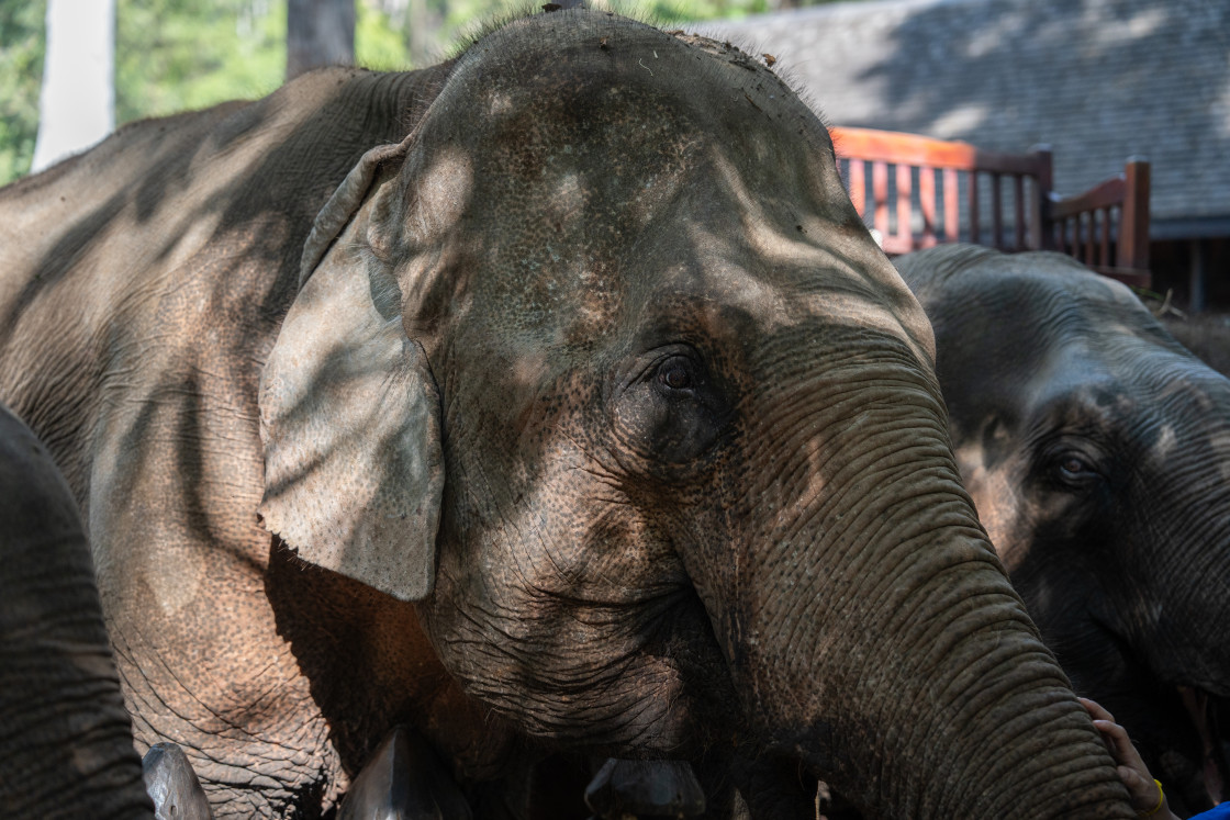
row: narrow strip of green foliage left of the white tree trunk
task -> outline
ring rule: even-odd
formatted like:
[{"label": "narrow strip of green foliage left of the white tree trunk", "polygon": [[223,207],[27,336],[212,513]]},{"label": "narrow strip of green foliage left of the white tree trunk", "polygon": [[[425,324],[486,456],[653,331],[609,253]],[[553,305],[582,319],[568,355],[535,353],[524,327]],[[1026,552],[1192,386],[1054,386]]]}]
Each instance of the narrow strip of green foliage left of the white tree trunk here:
[{"label": "narrow strip of green foliage left of the white tree trunk", "polygon": [[46,16],[46,0],[0,0],[0,184],[34,156]]}]

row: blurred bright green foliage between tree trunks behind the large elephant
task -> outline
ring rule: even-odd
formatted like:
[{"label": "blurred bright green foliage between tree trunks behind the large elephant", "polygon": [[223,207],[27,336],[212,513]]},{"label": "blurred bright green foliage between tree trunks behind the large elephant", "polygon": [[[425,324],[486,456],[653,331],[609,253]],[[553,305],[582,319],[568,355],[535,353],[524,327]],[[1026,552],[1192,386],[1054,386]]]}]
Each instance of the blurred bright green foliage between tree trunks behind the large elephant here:
[{"label": "blurred bright green foliage between tree trunks behind the large elephant", "polygon": [[[287,76],[289,4],[337,1],[114,0],[114,122],[268,93]],[[522,7],[503,0],[349,1],[354,63],[383,70],[435,63],[470,27],[501,10]],[[632,0],[625,7],[640,17],[675,22],[824,1]],[[46,17],[47,0],[0,0],[0,184],[28,172],[34,152]]]}]

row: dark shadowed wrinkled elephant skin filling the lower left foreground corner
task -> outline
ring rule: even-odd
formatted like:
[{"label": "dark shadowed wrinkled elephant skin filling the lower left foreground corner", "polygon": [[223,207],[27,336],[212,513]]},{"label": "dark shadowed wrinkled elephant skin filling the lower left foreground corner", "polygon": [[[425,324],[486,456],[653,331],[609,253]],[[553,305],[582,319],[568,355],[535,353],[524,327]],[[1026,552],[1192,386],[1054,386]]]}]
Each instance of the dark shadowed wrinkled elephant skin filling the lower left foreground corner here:
[{"label": "dark shadowed wrinkled elephant skin filling the lower left foreground corner", "polygon": [[42,443],[0,407],[0,806],[153,819],[85,525]]}]

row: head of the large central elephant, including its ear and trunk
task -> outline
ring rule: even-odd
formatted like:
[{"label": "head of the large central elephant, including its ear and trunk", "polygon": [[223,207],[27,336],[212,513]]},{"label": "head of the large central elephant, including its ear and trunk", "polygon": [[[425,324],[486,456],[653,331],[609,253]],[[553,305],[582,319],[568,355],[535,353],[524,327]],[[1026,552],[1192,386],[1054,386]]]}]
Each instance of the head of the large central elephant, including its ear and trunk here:
[{"label": "head of the large central elephant, including its ear and trunk", "polygon": [[739,781],[754,816],[811,816],[801,771],[870,815],[1130,816],[961,487],[927,322],[764,66],[513,22],[301,277],[263,521],[415,601],[528,735],[755,760],[798,794]]}]

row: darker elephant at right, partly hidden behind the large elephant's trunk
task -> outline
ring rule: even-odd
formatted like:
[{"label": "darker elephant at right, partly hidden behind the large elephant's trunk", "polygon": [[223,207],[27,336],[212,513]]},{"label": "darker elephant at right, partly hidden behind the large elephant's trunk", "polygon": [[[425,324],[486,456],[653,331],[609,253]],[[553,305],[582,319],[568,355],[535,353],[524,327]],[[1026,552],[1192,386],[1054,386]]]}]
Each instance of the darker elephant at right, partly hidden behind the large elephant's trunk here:
[{"label": "darker elephant at right, partly hidden behind the large elephant's trunk", "polygon": [[935,328],[966,487],[1043,638],[1171,806],[1209,808],[1226,777],[1230,380],[1065,256],[942,246],[897,267]]}]

